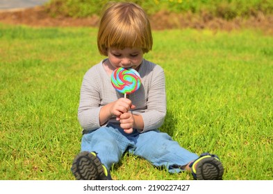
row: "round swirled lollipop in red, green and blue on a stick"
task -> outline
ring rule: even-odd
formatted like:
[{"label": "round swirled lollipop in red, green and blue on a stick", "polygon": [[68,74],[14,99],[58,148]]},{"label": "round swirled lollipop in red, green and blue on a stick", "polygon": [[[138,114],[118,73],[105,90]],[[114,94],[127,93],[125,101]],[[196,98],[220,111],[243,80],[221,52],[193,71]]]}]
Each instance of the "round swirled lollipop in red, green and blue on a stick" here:
[{"label": "round swirled lollipop in red, green and blue on a stick", "polygon": [[111,82],[117,91],[124,94],[124,98],[126,98],[126,94],[132,94],[138,90],[141,85],[138,71],[135,71],[135,69],[124,69],[122,67],[113,71]]}]

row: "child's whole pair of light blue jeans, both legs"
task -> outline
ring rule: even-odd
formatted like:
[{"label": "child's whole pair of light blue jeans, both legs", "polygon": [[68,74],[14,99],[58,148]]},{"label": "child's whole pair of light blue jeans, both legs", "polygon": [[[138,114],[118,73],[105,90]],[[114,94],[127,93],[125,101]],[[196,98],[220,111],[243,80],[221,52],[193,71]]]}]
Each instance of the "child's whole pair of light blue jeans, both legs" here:
[{"label": "child's whole pair of light blue jeans, both legs", "polygon": [[[126,134],[122,128],[107,125],[83,134],[81,151],[97,152],[101,163],[110,169],[128,151],[147,159],[154,166],[165,166],[170,173],[179,173],[181,166],[198,158],[195,153],[182,148],[179,143],[159,130]],[[180,167],[180,168],[179,168]]]}]

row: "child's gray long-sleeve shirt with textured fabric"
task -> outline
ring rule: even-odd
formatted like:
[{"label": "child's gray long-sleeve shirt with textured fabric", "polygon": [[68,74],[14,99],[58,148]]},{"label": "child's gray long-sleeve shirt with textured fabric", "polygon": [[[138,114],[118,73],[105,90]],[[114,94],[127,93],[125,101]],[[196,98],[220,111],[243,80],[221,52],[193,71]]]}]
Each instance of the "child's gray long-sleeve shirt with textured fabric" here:
[{"label": "child's gray long-sleeve shirt with textured fabric", "polygon": [[[103,61],[91,67],[83,77],[81,98],[78,107],[78,121],[84,131],[96,130],[99,125],[101,107],[124,97],[111,84],[110,76],[103,67]],[[154,130],[163,124],[166,115],[165,75],[163,69],[152,62],[143,60],[138,71],[141,86],[127,96],[135,109],[133,114],[140,114],[144,121],[142,132]],[[115,117],[108,123],[119,125]],[[106,123],[107,124],[107,123]]]}]

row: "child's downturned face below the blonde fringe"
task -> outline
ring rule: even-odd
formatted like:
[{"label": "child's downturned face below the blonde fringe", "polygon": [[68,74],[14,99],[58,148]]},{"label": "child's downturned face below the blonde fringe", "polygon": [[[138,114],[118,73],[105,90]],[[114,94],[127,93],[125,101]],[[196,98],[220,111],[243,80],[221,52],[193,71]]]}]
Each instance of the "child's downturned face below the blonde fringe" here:
[{"label": "child's downturned face below the blonde fringe", "polygon": [[113,67],[124,67],[137,69],[142,60],[143,52],[141,48],[108,48],[108,59]]}]

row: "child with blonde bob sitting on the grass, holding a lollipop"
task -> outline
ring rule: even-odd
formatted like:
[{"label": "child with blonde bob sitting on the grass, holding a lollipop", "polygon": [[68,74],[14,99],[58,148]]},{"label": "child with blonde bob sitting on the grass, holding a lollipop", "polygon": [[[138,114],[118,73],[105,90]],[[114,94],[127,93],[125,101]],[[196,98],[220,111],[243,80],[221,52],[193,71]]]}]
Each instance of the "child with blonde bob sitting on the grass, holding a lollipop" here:
[{"label": "child with blonde bob sitting on the grass, holding a lollipop", "polygon": [[[166,114],[165,75],[143,58],[152,44],[149,19],[140,6],[108,3],[97,37],[99,52],[108,58],[85,73],[81,86],[78,120],[83,137],[72,164],[76,179],[111,179],[110,167],[124,152],[165,166],[170,173],[189,170],[195,179],[222,179],[224,169],[216,155],[198,157],[158,130]],[[140,73],[140,89],[127,98],[111,85],[111,73],[118,67]]]}]

